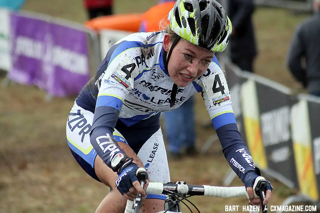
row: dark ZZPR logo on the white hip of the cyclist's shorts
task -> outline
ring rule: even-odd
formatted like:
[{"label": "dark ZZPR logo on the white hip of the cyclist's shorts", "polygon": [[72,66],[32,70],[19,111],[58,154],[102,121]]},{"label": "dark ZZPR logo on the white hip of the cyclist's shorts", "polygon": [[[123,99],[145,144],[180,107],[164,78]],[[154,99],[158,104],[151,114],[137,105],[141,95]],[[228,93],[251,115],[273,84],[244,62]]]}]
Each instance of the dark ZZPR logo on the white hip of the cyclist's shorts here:
[{"label": "dark ZZPR logo on the white hip of the cyclist's shorts", "polygon": [[[72,117],[72,119],[71,119],[71,116],[75,116],[75,117]],[[74,123],[74,124],[72,124],[73,126],[71,126],[71,123]],[[87,133],[90,133],[90,130],[91,130],[91,125],[87,124],[87,123],[88,123],[87,119],[84,118],[84,115],[80,114],[80,110],[77,110],[77,113],[70,113],[69,114],[68,126],[69,126],[71,132],[73,132],[76,128],[80,129],[78,134],[81,136],[82,143],[84,140],[84,136]]]}]

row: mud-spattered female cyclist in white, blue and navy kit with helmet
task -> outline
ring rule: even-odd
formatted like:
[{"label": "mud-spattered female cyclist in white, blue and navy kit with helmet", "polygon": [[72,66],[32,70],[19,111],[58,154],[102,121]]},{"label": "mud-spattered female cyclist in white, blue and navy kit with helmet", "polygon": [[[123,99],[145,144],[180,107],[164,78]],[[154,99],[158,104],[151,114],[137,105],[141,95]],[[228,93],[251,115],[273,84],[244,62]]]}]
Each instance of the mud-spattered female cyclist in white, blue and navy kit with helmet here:
[{"label": "mud-spattered female cyclist in white, blue and navy kit with helmet", "polygon": [[[136,170],[150,181],[169,182],[160,112],[178,108],[201,92],[223,152],[247,187],[259,176],[237,130],[228,85],[214,57],[232,27],[214,0],[178,0],[165,31],[135,33],[117,42],[76,98],[67,122],[72,155],[92,178],[111,187],[96,212],[124,212],[139,186]],[[265,203],[271,197],[268,184]],[[163,210],[165,197],[148,194],[144,210]],[[259,203],[253,199],[251,202]],[[142,210],[143,210],[142,208]]]}]

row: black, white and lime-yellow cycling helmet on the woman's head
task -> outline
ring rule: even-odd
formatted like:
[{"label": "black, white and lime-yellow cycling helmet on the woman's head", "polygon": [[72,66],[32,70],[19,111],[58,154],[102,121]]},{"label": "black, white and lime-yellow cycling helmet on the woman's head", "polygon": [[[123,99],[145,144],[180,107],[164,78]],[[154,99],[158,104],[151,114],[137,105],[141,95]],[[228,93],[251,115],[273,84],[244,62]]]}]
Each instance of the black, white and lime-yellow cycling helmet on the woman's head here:
[{"label": "black, white and lime-yellow cycling helmet on the woman's head", "polygon": [[168,20],[176,34],[199,47],[222,52],[228,45],[231,21],[214,0],[177,0]]}]

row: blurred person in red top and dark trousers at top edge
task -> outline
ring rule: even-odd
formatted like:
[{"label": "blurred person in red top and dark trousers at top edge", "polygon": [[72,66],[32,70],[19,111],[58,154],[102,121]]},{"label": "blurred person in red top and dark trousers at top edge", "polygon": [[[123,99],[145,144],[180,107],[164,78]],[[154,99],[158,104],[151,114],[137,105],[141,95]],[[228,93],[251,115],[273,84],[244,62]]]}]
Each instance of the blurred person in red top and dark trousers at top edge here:
[{"label": "blurred person in red top and dark trousers at top edge", "polygon": [[84,0],[89,19],[112,15],[113,0]]}]

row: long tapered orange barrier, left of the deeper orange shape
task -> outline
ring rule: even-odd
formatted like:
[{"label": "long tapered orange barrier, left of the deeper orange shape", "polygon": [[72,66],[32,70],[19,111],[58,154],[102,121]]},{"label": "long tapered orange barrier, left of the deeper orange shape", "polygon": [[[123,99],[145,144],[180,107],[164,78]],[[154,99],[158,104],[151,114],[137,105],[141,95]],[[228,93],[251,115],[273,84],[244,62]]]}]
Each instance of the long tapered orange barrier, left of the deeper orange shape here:
[{"label": "long tapered orange barrier, left of the deeper orange shape", "polygon": [[141,15],[141,13],[129,13],[101,16],[86,21],[84,25],[94,30],[114,29],[139,32],[142,20]]}]

